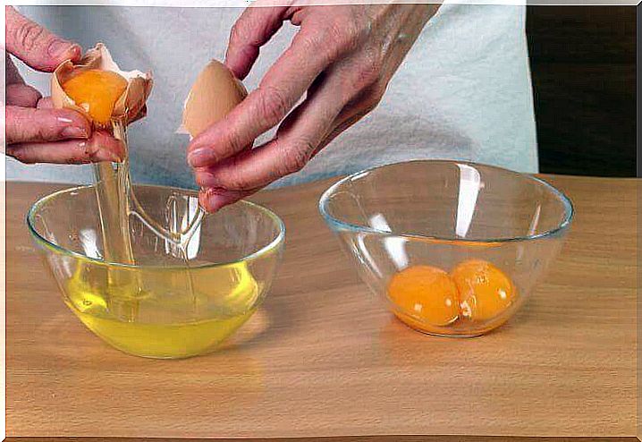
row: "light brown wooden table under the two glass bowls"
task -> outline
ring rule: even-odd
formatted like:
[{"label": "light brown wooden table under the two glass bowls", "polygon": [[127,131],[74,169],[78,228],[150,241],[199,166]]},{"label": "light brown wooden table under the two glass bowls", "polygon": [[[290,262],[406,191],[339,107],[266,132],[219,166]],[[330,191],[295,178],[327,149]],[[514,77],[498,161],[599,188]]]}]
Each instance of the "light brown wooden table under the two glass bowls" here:
[{"label": "light brown wooden table under the two glass bowls", "polygon": [[376,302],[317,213],[328,182],[261,192],[288,229],[274,288],[224,351],[183,361],[120,353],[72,316],[23,221],[60,186],[7,183],[7,435],[633,437],[637,182],[546,178],[577,208],[568,242],[518,316],[475,339],[420,335]]}]

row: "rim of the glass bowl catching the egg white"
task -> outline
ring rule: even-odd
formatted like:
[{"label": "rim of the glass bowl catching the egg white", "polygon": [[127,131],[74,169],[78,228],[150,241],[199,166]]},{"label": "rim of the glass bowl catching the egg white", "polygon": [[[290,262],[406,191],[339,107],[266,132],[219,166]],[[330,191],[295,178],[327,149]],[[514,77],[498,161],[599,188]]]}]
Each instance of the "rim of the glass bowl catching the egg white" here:
[{"label": "rim of the glass bowl catching the egg white", "polygon": [[[85,184],[85,185],[79,185],[79,186],[74,186],[74,187],[69,187],[66,189],[62,189],[60,191],[55,191],[53,193],[49,193],[46,196],[38,199],[36,202],[34,202],[29,211],[27,212],[27,226],[29,228],[31,236],[38,242],[39,245],[43,246],[44,248],[54,251],[55,253],[61,254],[61,255],[66,255],[69,257],[72,257],[74,259],[82,259],[85,261],[89,261],[91,263],[101,265],[101,266],[109,266],[109,267],[114,267],[114,268],[144,268],[148,270],[152,269],[179,269],[179,268],[185,268],[185,266],[153,266],[153,265],[138,265],[138,264],[125,264],[123,262],[112,262],[112,261],[107,261],[105,259],[97,259],[97,258],[92,258],[89,257],[83,253],[80,253],[78,251],[71,251],[69,249],[66,249],[55,242],[51,242],[47,240],[45,237],[43,237],[41,234],[38,233],[36,228],[34,227],[32,223],[32,218],[36,215],[38,208],[41,208],[44,204],[46,204],[47,201],[53,200],[56,197],[62,195],[63,193],[71,193],[72,191],[82,191],[86,189],[90,189],[95,187],[95,184]],[[174,186],[162,186],[162,185],[156,185],[156,184],[133,184],[132,187],[152,187],[152,188],[163,188],[163,189],[172,189],[175,191],[182,191],[184,193],[190,193],[193,194],[194,196],[198,195],[197,191],[193,191],[190,189],[183,189],[180,187],[174,187]],[[239,200],[234,204],[243,204],[245,206],[248,206],[250,208],[255,208],[258,209],[258,211],[262,212],[265,214],[267,217],[269,217],[275,225],[277,225],[279,233],[276,235],[275,239],[273,239],[271,242],[267,243],[265,246],[261,247],[258,249],[258,251],[253,251],[249,255],[244,256],[241,259],[234,259],[231,261],[222,261],[222,262],[213,262],[213,263],[207,263],[207,264],[200,264],[197,266],[190,266],[190,269],[202,269],[202,268],[221,268],[221,267],[228,267],[232,266],[234,264],[239,264],[241,262],[248,262],[248,261],[253,261],[255,259],[258,259],[265,255],[266,253],[270,251],[274,251],[277,247],[279,247],[281,244],[283,244],[284,239],[285,239],[285,225],[283,223],[283,220],[281,217],[278,217],[275,212],[270,210],[269,208],[266,208],[264,206],[261,206],[260,204],[257,204],[255,202],[251,202],[248,200]]]}]

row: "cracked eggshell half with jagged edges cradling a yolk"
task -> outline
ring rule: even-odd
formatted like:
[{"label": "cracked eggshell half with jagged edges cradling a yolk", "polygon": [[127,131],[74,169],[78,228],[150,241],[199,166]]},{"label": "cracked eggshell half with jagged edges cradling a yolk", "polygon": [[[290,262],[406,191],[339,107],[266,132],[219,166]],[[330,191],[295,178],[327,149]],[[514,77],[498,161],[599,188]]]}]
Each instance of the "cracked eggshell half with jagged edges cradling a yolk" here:
[{"label": "cracked eggshell half with jagged edges cradling a yolk", "polygon": [[118,64],[114,63],[114,59],[109,54],[106,46],[102,43],[98,43],[96,47],[89,49],[78,64],[72,64],[68,60],[55,69],[51,78],[51,98],[55,107],[76,110],[91,120],[87,111],[77,106],[72,98],[69,98],[64,93],[63,89],[65,81],[89,69],[116,72],[127,80],[127,89],[114,105],[113,116],[115,118],[122,118],[126,124],[129,124],[146,114],[146,102],[153,84],[151,72],[121,71]]}]

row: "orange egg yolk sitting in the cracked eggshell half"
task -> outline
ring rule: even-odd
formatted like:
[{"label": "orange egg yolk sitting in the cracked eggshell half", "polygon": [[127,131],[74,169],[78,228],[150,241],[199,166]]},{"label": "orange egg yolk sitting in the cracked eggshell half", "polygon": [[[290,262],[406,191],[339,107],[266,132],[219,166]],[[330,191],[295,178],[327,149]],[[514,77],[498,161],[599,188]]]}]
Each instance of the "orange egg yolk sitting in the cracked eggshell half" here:
[{"label": "orange egg yolk sitting in the cracked eggshell half", "polygon": [[65,81],[63,90],[98,124],[109,123],[114,105],[127,89],[127,80],[116,72],[90,69]]}]

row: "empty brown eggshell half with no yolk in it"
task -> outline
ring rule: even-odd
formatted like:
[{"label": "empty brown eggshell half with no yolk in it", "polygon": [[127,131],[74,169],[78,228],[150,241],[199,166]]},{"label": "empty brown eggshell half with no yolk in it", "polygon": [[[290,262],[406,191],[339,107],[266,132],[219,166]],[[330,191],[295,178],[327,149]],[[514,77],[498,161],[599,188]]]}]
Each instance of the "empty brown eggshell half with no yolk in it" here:
[{"label": "empty brown eggshell half with no yolk in it", "polygon": [[180,133],[196,137],[248,96],[248,91],[232,71],[216,60],[199,73],[185,100]]}]

